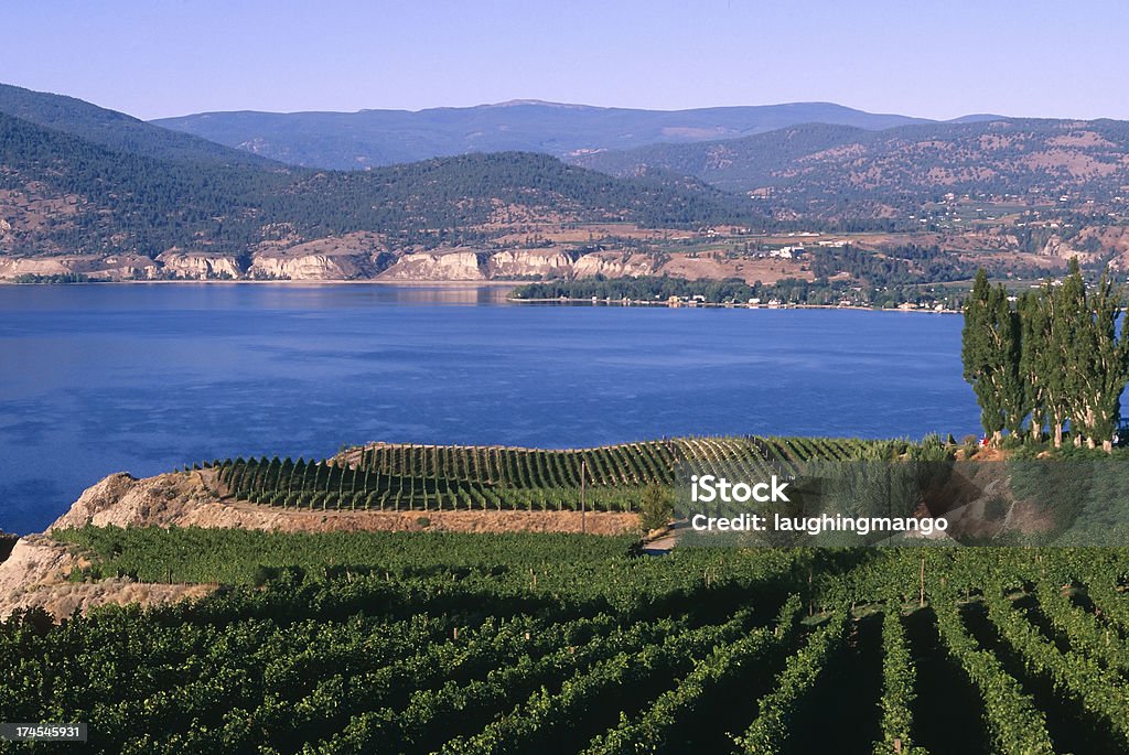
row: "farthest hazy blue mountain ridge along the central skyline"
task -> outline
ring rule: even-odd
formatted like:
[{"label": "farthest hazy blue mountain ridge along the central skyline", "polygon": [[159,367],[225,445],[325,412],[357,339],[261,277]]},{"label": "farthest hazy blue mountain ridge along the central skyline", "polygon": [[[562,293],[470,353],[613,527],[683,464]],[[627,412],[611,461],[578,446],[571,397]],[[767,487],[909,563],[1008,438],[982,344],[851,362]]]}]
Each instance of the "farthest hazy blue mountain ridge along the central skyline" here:
[{"label": "farthest hazy blue mountain ridge along the central skyline", "polygon": [[926,121],[832,103],[646,111],[539,100],[418,112],[201,113],[154,121],[282,163],[336,169],[469,152],[520,150],[563,157],[659,142],[734,139],[816,122],[889,129]]}]

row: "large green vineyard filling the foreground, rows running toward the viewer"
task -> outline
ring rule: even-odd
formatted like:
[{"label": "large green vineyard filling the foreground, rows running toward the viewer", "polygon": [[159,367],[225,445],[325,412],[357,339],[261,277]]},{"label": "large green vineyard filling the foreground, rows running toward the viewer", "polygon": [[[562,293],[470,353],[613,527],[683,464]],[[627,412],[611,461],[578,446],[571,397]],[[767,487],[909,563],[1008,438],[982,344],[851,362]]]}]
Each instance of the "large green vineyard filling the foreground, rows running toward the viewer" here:
[{"label": "large green vineyard filling the foreground, rows running toward the viewer", "polygon": [[226,586],[0,625],[0,720],[86,721],[91,752],[1129,752],[1123,550],[60,537],[104,576]]}]

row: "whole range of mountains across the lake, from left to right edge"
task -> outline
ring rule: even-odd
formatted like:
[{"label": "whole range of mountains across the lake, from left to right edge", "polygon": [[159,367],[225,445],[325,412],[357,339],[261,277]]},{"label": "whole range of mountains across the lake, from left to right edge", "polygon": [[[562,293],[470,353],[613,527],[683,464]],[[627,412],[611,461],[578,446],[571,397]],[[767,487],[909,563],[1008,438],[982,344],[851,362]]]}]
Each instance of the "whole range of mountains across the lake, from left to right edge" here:
[{"label": "whole range of mountains across the lake, from left to right edge", "polygon": [[[665,113],[519,102],[160,123],[200,126],[242,149],[0,85],[0,278],[79,272],[88,258],[111,257],[119,278],[373,276],[390,255],[423,254],[420,267],[435,249],[541,254],[554,244],[567,253],[553,270],[589,253],[621,255],[634,270],[632,255],[654,256],[644,260],[654,266],[689,248],[683,242],[743,228],[929,231],[926,243],[959,249],[1082,249],[1095,260],[1129,253],[1121,121],[929,122],[821,103]],[[264,124],[273,135],[240,141]],[[383,165],[411,158],[423,159]],[[366,169],[313,167],[325,165]],[[980,207],[961,218],[959,197],[940,202],[949,193],[1008,199],[999,213]],[[1053,218],[1040,216],[1051,209]],[[994,226],[970,228],[978,211]],[[76,255],[81,264],[24,264]],[[333,256],[352,266],[330,264]]]}]

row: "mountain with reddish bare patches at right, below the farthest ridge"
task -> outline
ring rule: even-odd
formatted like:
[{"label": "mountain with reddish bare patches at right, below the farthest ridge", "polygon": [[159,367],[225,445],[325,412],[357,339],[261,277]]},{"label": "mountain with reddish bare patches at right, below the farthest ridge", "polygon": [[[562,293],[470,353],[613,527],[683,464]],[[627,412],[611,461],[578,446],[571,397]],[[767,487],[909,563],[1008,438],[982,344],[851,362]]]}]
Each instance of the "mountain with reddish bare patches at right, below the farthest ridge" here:
[{"label": "mountain with reddish bare patches at right, below the farthest ridge", "polygon": [[956,194],[1109,201],[1129,188],[1129,122],[1004,118],[882,131],[826,124],[570,158],[616,176],[651,170],[808,209]]}]

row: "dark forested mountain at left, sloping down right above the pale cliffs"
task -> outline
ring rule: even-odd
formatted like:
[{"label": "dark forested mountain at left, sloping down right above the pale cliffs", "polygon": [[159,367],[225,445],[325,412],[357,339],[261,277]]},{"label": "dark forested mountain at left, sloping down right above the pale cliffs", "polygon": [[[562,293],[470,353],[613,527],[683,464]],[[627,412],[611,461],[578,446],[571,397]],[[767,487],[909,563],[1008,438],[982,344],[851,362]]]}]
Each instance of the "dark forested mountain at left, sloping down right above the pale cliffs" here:
[{"label": "dark forested mountain at left, sloping down right above the pale cliffs", "polygon": [[[139,129],[124,116],[116,134],[108,116],[89,118],[68,103],[56,112],[62,130],[0,113],[0,255],[195,249],[239,257],[361,232],[386,246],[431,247],[481,242],[531,219],[672,227],[750,216],[747,200],[697,179],[620,179],[545,155],[470,155],[364,173],[285,168],[190,159],[193,152],[168,147],[180,134],[163,144],[148,138],[157,126]],[[75,135],[80,130],[102,138]],[[154,156],[168,151],[177,159]]]}]

